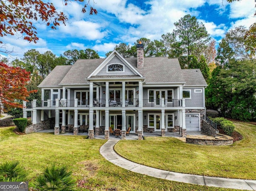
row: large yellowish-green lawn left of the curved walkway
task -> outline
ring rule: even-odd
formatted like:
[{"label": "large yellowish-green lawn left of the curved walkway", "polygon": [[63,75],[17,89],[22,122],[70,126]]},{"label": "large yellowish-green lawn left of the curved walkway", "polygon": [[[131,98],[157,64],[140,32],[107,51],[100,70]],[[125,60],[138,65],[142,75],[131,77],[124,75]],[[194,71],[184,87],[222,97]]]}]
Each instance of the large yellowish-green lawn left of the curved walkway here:
[{"label": "large yellowish-green lawn left of the curved walkway", "polygon": [[[0,163],[6,160],[20,161],[29,172],[30,183],[42,173],[44,167],[55,163],[67,165],[77,181],[83,180],[84,185],[78,187],[83,191],[234,191],[167,181],[122,169],[100,155],[100,146],[106,140],[89,140],[85,136],[54,136],[50,133],[18,136],[12,132],[13,129],[0,128]],[[130,144],[136,146],[135,143],[149,141],[121,141],[120,145],[129,148]],[[155,154],[151,154],[150,160],[153,158],[157,158]]]}]

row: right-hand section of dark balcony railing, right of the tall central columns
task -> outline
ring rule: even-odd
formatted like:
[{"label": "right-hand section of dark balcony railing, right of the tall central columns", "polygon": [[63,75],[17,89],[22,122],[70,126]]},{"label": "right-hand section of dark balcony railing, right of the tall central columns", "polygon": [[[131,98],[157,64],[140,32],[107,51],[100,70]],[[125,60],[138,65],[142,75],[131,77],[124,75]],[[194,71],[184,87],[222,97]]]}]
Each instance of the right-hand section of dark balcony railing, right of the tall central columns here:
[{"label": "right-hand section of dark balcony railing, right of the tall central columns", "polygon": [[182,99],[144,99],[143,107],[182,107]]}]

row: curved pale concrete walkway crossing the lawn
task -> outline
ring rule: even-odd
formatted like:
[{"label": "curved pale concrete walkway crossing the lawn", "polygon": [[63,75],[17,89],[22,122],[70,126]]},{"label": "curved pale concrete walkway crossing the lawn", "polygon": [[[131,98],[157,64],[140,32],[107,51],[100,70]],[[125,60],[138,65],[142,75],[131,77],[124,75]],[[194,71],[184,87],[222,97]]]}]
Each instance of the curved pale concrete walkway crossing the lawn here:
[{"label": "curved pale concrete walkway crossing the lawn", "polygon": [[100,148],[100,154],[110,161],[111,163],[118,165],[124,169],[149,175],[156,178],[162,178],[170,181],[178,181],[190,184],[222,187],[222,188],[232,188],[241,190],[254,190],[256,191],[256,180],[244,180],[244,179],[229,179],[229,178],[218,178],[218,177],[208,177],[202,175],[191,175],[176,173],[171,171],[165,171],[160,169],[155,169],[152,167],[140,165],[134,163],[125,158],[122,158],[114,151],[114,145],[119,140],[108,140]]}]

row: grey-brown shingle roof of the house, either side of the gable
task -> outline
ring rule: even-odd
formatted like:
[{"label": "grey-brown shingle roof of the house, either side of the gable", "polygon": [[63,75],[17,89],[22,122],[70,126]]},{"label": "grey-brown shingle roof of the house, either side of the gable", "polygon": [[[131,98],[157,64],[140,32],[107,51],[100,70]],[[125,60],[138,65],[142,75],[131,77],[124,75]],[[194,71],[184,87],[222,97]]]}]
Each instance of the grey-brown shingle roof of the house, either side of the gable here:
[{"label": "grey-brown shingle roof of the house, either side of the gable", "polygon": [[[207,85],[200,69],[181,69],[178,59],[168,57],[144,57],[144,67],[137,68],[137,58],[125,58],[140,74],[146,83],[186,83],[185,85]],[[39,87],[58,85],[84,85],[86,78],[105,59],[79,59],[74,65],[56,66],[42,81]],[[92,76],[100,78],[139,77],[138,75],[124,76]]]}]

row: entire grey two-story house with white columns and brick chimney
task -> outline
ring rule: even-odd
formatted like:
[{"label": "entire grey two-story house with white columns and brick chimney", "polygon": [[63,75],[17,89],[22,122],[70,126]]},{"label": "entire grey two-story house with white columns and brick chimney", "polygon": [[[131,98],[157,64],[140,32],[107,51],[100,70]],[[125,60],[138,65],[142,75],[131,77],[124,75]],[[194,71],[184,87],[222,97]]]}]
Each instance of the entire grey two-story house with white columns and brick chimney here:
[{"label": "entire grey two-story house with white columns and brick chimney", "polygon": [[24,117],[32,112],[32,124],[55,118],[55,134],[88,125],[89,138],[105,134],[109,127],[143,132],[200,131],[205,114],[206,81],[199,69],[181,69],[178,59],[124,58],[114,50],[106,59],[79,59],[74,65],[56,66],[42,81],[42,100],[24,102]]}]

